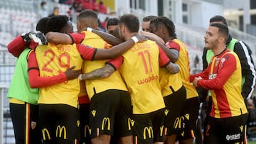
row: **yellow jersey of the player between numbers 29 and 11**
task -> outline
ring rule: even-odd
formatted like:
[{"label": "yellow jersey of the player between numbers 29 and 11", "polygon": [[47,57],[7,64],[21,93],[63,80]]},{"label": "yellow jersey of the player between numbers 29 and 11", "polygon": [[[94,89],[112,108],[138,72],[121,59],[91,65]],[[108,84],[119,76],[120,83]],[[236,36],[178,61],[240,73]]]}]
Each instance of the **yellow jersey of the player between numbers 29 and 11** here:
[{"label": "yellow jersey of the player between numbers 29 and 11", "polygon": [[[83,31],[86,37],[85,40],[82,41],[83,45],[89,45],[90,47],[94,48],[110,48],[109,45],[105,40],[102,40],[99,35],[89,31]],[[102,68],[105,66],[107,60],[96,60],[96,61],[85,61],[82,67],[82,73],[92,72],[93,70]],[[127,87],[124,84],[124,81],[119,74],[119,71],[115,71],[111,74],[110,77],[105,79],[95,79],[95,80],[86,80],[85,86],[87,89],[87,94],[91,99],[92,96],[96,93],[104,92],[107,89],[119,89],[127,91]]]}]

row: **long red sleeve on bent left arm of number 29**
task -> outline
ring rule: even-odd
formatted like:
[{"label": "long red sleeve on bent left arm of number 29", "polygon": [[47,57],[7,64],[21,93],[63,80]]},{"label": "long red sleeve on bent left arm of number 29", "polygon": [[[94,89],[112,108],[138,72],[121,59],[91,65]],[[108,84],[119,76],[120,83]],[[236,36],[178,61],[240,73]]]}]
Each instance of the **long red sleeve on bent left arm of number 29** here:
[{"label": "long red sleeve on bent left arm of number 29", "polygon": [[31,88],[40,88],[65,82],[67,78],[65,77],[65,73],[53,77],[40,77],[38,63],[36,61],[36,52],[31,50],[28,55],[28,80]]}]

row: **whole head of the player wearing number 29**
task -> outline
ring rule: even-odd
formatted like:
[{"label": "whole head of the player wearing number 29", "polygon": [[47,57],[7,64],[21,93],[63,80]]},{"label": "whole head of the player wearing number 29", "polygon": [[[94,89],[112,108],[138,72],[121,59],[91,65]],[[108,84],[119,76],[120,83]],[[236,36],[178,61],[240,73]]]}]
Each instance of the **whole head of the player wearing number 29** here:
[{"label": "whole head of the player wearing number 29", "polygon": [[48,31],[73,33],[73,25],[68,16],[53,16],[47,22]]}]

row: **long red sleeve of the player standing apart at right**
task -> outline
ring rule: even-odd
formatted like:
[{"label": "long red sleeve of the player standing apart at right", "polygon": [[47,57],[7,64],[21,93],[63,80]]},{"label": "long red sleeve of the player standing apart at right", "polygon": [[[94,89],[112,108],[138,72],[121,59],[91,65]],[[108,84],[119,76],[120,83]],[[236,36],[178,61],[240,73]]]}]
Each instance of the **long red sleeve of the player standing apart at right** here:
[{"label": "long red sleeve of the player standing apart at right", "polygon": [[[210,65],[215,64],[211,63]],[[206,89],[222,89],[225,82],[228,81],[230,76],[236,70],[236,65],[237,61],[235,60],[235,56],[232,54],[226,54],[225,62],[223,62],[223,65],[219,68],[218,74],[216,75],[215,79],[198,80],[198,87],[203,87]]]}]

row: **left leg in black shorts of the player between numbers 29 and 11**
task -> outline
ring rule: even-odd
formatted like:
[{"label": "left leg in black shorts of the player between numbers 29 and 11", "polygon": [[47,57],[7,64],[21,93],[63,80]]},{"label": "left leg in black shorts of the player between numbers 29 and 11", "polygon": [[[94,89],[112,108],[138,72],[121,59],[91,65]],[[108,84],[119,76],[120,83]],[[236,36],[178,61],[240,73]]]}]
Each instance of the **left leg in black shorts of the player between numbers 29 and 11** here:
[{"label": "left leg in black shorts of the player between numbers 29 and 11", "polygon": [[111,135],[114,134],[114,116],[119,106],[117,92],[110,89],[92,96],[89,116],[92,144],[110,143]]}]

